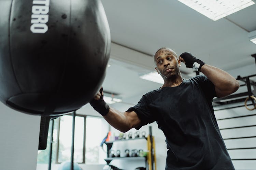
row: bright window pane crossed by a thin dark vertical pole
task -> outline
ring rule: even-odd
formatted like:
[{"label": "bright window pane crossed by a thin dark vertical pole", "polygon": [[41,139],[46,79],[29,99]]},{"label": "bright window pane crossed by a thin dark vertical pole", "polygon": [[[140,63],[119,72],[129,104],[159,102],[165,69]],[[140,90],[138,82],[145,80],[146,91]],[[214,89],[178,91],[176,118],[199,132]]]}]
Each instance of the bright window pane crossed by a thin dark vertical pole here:
[{"label": "bright window pane crossed by a thin dark vertical pole", "polygon": [[[60,118],[58,162],[70,161],[72,140],[72,116]],[[75,117],[74,162],[83,162],[84,117]]]}]

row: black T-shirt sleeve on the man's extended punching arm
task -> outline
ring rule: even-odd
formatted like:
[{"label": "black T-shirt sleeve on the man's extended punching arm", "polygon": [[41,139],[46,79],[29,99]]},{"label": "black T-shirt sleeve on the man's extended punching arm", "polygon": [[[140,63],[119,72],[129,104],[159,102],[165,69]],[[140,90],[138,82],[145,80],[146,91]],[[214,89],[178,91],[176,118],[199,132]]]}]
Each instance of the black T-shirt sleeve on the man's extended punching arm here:
[{"label": "black T-shirt sleeve on the man's extended punching arm", "polygon": [[152,114],[152,109],[150,109],[150,97],[148,94],[142,96],[137,105],[130,107],[126,112],[134,111],[139,119],[141,120],[141,124],[135,129],[139,130],[142,126],[154,122],[154,117]]}]

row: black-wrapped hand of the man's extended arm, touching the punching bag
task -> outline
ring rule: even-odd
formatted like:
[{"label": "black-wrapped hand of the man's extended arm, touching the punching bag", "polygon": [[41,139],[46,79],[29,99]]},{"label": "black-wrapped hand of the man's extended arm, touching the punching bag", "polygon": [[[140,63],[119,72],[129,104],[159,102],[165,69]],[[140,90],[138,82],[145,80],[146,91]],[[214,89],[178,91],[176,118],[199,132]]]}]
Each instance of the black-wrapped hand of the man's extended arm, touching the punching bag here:
[{"label": "black-wrapped hand of the man's extended arm, touching the punching bag", "polygon": [[[103,88],[100,89],[100,94],[102,94]],[[109,105],[106,104],[106,102],[103,100],[103,95],[100,96],[99,100],[91,100],[90,105],[93,106],[93,108],[99,112],[102,116],[105,116],[109,113]]]}]

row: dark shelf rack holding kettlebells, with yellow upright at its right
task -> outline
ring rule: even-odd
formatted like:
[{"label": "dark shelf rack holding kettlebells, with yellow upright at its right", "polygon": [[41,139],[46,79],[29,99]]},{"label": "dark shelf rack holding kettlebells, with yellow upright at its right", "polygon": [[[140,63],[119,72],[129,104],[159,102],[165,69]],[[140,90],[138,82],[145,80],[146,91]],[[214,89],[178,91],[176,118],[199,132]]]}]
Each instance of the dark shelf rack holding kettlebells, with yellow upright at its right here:
[{"label": "dark shelf rack holding kettlebells, with yellow upright at its right", "polygon": [[[153,148],[152,143],[154,144],[154,142],[152,142],[152,138],[154,138],[151,134],[151,126],[150,126],[150,134],[148,135],[148,137],[140,137],[140,138],[130,138],[130,139],[118,139],[118,140],[114,140],[114,141],[110,141],[110,142],[105,142],[106,146],[107,146],[107,155],[109,153],[109,151],[111,150],[113,143],[114,142],[124,142],[124,141],[129,141],[129,140],[147,140],[147,147],[150,148],[150,152],[148,153],[147,157],[107,157],[104,160],[106,161],[106,163],[109,165],[110,162],[112,160],[118,159],[118,160],[143,160],[145,161],[145,165],[146,165],[146,169],[147,170],[153,170],[153,164],[155,162],[155,148]],[[152,165],[148,165],[148,163],[152,164]],[[156,164],[156,162],[155,162]],[[155,166],[156,169],[156,166]]]}]

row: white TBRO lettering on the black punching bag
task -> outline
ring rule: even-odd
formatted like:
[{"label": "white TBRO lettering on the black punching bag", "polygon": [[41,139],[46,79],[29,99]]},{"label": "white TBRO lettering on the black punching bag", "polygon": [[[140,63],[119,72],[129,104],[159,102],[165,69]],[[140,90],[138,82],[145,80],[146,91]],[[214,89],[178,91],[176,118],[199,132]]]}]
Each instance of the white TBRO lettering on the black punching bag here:
[{"label": "white TBRO lettering on the black punching bag", "polygon": [[32,33],[45,33],[48,31],[49,16],[49,3],[50,0],[33,0],[32,15],[31,15],[31,27]]}]

